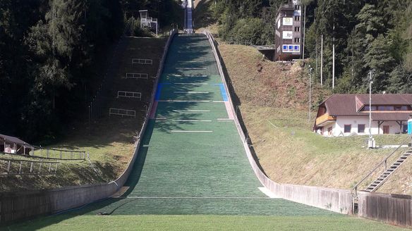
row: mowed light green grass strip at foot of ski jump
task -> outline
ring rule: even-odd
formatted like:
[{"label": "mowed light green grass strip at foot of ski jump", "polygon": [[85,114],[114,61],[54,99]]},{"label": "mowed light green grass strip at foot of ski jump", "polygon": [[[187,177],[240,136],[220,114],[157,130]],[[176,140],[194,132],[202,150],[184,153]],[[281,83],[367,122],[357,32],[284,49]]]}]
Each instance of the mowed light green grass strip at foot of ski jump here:
[{"label": "mowed light green grass strip at foot of ski jump", "polygon": [[54,216],[8,230],[407,230],[350,216]]}]

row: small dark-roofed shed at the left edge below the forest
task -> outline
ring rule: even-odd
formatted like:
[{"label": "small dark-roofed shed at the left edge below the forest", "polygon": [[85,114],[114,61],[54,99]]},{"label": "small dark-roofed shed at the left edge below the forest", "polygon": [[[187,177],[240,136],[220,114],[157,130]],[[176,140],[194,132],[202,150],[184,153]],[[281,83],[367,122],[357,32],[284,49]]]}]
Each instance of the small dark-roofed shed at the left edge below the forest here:
[{"label": "small dark-roofed shed at the left edge below the forest", "polygon": [[0,152],[6,154],[30,154],[35,146],[24,142],[18,137],[11,137],[0,134]]}]

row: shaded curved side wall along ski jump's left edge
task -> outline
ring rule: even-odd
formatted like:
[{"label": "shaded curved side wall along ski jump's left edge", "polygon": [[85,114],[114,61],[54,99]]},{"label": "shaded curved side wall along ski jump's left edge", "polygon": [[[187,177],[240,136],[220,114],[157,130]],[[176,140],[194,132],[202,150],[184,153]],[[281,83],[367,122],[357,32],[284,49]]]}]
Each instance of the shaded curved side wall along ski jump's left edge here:
[{"label": "shaded curved side wall along ski jump's left edge", "polygon": [[154,101],[154,94],[157,89],[157,82],[162,74],[166,54],[169,50],[169,46],[174,35],[176,35],[176,30],[171,31],[169,39],[166,42],[166,46],[164,47],[164,52],[160,61],[159,70],[157,71],[157,78],[154,84],[150,106],[147,110],[145,123],[143,124],[142,130],[140,130],[139,139],[135,147],[133,157],[121,176],[112,182],[97,185],[63,187],[60,189],[27,192],[0,193],[0,224],[11,223],[16,220],[57,213],[70,208],[83,206],[91,203],[92,201],[97,201],[113,195],[124,185],[131,173],[131,170],[133,169],[136,157],[138,156],[140,138],[143,138],[143,135],[145,134],[147,122],[149,120],[150,111]]}]

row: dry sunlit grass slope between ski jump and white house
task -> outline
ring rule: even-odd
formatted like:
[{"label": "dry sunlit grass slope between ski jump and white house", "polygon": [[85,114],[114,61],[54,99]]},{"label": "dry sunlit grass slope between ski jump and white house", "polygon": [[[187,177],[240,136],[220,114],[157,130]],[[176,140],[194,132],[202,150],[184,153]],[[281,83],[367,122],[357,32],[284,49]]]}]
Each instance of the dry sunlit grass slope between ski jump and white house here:
[{"label": "dry sunlit grass slope between ski jump and white house", "polygon": [[[274,63],[250,46],[221,43],[248,135],[260,164],[281,183],[350,189],[393,149],[368,150],[364,136],[321,137],[308,120],[308,75],[298,63]],[[302,77],[303,76],[303,77]],[[314,102],[331,92],[314,89]],[[399,144],[405,135],[378,135],[377,144]],[[391,160],[393,161],[393,160]],[[408,160],[380,192],[412,193]],[[404,177],[401,177],[404,176]],[[408,179],[409,177],[409,179]],[[370,179],[372,180],[372,178]],[[403,181],[406,180],[406,181]]]}]

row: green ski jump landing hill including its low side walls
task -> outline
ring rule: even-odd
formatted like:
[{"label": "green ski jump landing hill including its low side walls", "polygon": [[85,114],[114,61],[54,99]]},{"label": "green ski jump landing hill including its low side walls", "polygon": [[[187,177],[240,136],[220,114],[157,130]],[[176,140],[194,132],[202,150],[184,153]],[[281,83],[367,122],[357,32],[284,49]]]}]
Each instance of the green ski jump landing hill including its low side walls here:
[{"label": "green ski jump landing hill including its low side walls", "polygon": [[[0,195],[1,222],[57,211],[64,211],[57,215],[61,219],[199,214],[315,218],[353,212],[349,190],[278,184],[260,170],[210,33],[174,31],[165,52],[147,120],[123,175],[108,184]],[[359,215],[374,218],[367,213],[368,196],[359,196]]]}]

